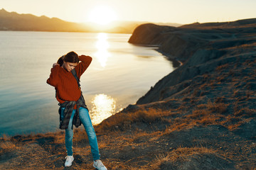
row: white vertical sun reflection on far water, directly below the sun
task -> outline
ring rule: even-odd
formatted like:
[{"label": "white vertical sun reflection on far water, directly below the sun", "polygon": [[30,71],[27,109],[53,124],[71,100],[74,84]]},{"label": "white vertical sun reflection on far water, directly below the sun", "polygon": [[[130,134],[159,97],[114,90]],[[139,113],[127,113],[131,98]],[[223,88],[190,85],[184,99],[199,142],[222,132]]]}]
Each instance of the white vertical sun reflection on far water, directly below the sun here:
[{"label": "white vertical sun reflection on far water, directly below the sun", "polygon": [[107,49],[110,47],[109,42],[107,42],[107,33],[98,33],[97,35],[96,48],[97,52],[95,57],[100,62],[100,65],[104,68],[107,65],[107,58],[110,57],[110,52]]}]

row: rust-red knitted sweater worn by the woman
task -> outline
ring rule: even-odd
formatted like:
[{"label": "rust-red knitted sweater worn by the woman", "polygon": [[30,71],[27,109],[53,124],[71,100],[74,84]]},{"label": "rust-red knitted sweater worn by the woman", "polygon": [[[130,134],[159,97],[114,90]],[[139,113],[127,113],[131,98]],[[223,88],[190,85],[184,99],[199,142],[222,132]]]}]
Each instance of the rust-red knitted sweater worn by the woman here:
[{"label": "rust-red knitted sweater worn by the woman", "polygon": [[[78,65],[75,67],[75,72],[80,79],[81,75],[92,62],[92,57],[82,55],[79,57],[79,61]],[[81,96],[81,90],[73,74],[59,65],[50,69],[50,77],[46,82],[57,89],[56,99],[60,103],[64,103],[65,101],[78,101]]]}]

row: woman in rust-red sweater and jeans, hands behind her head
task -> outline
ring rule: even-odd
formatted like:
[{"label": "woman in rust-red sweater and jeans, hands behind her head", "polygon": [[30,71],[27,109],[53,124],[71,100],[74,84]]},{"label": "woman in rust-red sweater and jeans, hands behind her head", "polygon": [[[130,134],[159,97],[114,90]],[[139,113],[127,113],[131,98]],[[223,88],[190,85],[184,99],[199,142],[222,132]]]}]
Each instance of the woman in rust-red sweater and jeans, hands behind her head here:
[{"label": "woman in rust-red sweater and jeans, hands behind her head", "polygon": [[90,56],[80,55],[78,57],[78,54],[75,52],[68,52],[67,55],[63,55],[57,63],[53,64],[47,83],[55,87],[55,97],[60,102],[60,129],[65,129],[65,147],[68,154],[65,166],[71,166],[74,160],[72,149],[73,125],[78,127],[82,124],[89,139],[94,160],[93,166],[99,170],[106,170],[107,168],[100,161],[97,137],[82,96],[82,91],[80,86],[78,86],[79,80],[73,74],[73,69],[75,69],[75,73],[78,79],[80,79],[91,62],[92,57]]}]

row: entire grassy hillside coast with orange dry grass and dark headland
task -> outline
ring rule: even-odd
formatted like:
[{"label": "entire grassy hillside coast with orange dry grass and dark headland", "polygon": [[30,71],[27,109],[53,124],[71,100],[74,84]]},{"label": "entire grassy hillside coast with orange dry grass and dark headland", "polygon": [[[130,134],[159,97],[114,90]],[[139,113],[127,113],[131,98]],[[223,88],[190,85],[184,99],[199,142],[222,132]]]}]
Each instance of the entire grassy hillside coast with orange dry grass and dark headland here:
[{"label": "entire grassy hillside coast with orange dry grass and dark headland", "polygon": [[[255,169],[255,23],[244,29],[149,24],[134,30],[136,41],[160,45],[183,64],[136,104],[95,126],[107,168]],[[74,134],[72,167],[90,169],[85,132]],[[0,168],[63,169],[63,135],[1,138]]]}]

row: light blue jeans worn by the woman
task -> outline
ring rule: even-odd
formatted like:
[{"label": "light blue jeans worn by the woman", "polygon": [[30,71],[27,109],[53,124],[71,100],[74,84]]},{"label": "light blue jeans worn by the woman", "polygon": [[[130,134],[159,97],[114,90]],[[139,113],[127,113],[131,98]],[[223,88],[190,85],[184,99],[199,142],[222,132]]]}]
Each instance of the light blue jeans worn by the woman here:
[{"label": "light blue jeans worn by the woman", "polygon": [[[63,116],[63,111],[65,108],[61,108],[61,115]],[[65,147],[67,149],[68,156],[73,155],[72,145],[73,145],[73,125],[72,121],[75,115],[75,109],[73,110],[73,113],[70,117],[70,122],[68,124],[68,129],[65,130]],[[93,160],[100,159],[100,152],[99,147],[97,145],[97,137],[95,134],[95,130],[92,126],[92,121],[90,119],[89,112],[86,108],[79,108],[79,117],[81,120],[82,125],[85,127],[85,131],[87,133],[87,137],[89,139],[91,152]]]}]

